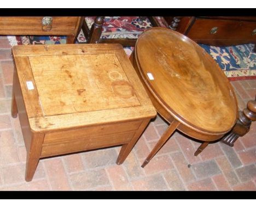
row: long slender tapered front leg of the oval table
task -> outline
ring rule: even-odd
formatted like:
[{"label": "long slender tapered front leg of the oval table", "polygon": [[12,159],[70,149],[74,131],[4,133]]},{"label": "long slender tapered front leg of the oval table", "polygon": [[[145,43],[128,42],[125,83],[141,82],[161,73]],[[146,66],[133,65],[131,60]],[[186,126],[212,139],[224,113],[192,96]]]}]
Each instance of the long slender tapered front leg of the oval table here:
[{"label": "long slender tapered front leg of the oval table", "polygon": [[154,146],[153,150],[149,153],[148,157],[142,164],[142,168],[144,168],[149,161],[155,156],[155,154],[161,149],[162,145],[171,137],[172,133],[176,130],[179,125],[179,121],[173,120],[168,129],[162,134],[161,138],[158,140],[158,143]]}]

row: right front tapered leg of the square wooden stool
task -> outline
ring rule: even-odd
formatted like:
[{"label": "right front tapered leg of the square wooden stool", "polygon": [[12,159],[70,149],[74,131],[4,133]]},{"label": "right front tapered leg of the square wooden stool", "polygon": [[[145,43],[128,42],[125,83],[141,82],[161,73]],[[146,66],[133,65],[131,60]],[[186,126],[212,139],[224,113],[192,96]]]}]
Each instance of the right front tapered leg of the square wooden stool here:
[{"label": "right front tapered leg of the square wooden stool", "polygon": [[137,140],[139,139],[139,137],[141,136],[143,131],[146,129],[149,121],[150,121],[150,119],[144,120],[142,122],[141,126],[139,126],[139,129],[136,131],[133,138],[130,140],[130,142],[127,144],[123,144],[123,146],[119,152],[118,158],[117,158],[117,164],[122,164],[125,161],[126,157],[129,155],[133,146],[136,144]]}]

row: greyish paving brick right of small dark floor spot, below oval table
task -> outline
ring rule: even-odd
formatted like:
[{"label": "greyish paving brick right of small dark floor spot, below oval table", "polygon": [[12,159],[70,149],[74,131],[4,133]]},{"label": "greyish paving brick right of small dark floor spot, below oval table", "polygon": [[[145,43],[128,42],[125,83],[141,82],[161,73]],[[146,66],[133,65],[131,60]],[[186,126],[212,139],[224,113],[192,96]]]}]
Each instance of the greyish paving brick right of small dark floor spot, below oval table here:
[{"label": "greyish paving brick right of small dark floor spot, below oval table", "polygon": [[192,164],[191,168],[197,179],[204,179],[221,173],[214,160]]}]

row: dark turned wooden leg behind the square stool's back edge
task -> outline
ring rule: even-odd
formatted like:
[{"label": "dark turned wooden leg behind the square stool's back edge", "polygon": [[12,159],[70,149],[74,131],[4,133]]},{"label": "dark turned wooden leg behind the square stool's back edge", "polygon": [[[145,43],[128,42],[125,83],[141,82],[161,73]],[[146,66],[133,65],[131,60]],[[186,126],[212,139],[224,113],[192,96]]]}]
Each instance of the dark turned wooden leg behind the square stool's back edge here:
[{"label": "dark turned wooden leg behind the square stool's back edge", "polygon": [[91,26],[88,43],[97,44],[100,42],[101,33],[102,33],[103,17],[96,17],[94,24]]}]

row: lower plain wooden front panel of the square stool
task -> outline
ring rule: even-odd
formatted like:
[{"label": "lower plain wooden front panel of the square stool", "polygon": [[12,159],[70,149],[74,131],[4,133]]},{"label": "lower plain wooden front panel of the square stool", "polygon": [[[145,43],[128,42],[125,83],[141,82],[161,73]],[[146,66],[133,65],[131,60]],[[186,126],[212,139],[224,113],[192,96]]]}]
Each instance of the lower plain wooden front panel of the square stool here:
[{"label": "lower plain wooden front panel of the square stool", "polygon": [[84,137],[65,143],[51,143],[43,144],[40,157],[49,157],[54,155],[68,154],[71,152],[92,150],[98,148],[104,148],[107,146],[114,146],[128,143],[134,136],[135,131],[108,134],[106,136],[98,137]]}]

